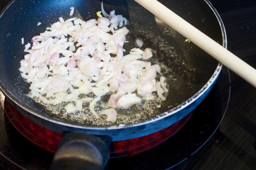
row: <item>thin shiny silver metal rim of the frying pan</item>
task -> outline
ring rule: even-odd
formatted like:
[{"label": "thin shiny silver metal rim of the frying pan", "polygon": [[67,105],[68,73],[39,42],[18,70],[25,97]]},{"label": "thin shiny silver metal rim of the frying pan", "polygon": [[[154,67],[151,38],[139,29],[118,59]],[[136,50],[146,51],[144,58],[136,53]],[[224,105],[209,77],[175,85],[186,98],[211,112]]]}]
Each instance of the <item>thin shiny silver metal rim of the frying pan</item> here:
[{"label": "thin shiny silver metal rim of the frying pan", "polygon": [[[2,15],[4,14],[5,10],[16,0],[12,0],[11,2],[9,2],[7,4],[7,6],[1,11],[0,13],[0,18],[2,17]],[[216,9],[214,8],[214,6],[208,1],[208,0],[204,0],[209,7],[211,8],[211,10],[214,12],[219,24],[220,24],[220,28],[221,28],[221,32],[222,32],[222,43],[223,43],[223,47],[227,49],[227,36],[226,36],[226,30],[224,27],[224,24],[218,14],[218,12],[216,11]],[[20,108],[22,108],[23,110],[33,114],[34,116],[39,117],[40,119],[44,119],[46,121],[49,121],[51,123],[56,123],[62,126],[67,126],[67,127],[73,127],[73,128],[79,128],[79,129],[93,129],[93,130],[114,130],[114,129],[120,129],[120,128],[129,128],[129,127],[135,127],[135,126],[141,126],[141,125],[145,125],[145,124],[149,124],[155,121],[158,121],[160,119],[164,119],[167,116],[170,116],[172,114],[175,114],[177,112],[179,112],[180,110],[188,107],[190,104],[192,104],[193,102],[195,102],[198,98],[200,98],[217,80],[220,72],[221,72],[221,68],[222,68],[222,64],[219,62],[217,65],[216,70],[214,71],[214,73],[212,74],[211,78],[207,81],[207,83],[193,96],[191,96],[190,98],[188,98],[186,101],[184,101],[183,103],[179,104],[178,106],[163,112],[161,114],[158,114],[154,117],[148,118],[148,119],[142,119],[138,122],[135,122],[133,124],[120,124],[120,125],[112,125],[112,126],[98,126],[98,125],[79,125],[76,124],[74,122],[65,122],[63,120],[60,119],[55,119],[54,117],[50,117],[47,115],[43,115],[43,114],[38,114],[37,112],[35,112],[34,110],[28,108],[25,104],[21,103],[17,98],[15,98],[10,91],[2,84],[1,80],[0,80],[0,89],[2,90],[2,92],[4,93],[4,95],[12,100],[16,105],[18,105]]]}]

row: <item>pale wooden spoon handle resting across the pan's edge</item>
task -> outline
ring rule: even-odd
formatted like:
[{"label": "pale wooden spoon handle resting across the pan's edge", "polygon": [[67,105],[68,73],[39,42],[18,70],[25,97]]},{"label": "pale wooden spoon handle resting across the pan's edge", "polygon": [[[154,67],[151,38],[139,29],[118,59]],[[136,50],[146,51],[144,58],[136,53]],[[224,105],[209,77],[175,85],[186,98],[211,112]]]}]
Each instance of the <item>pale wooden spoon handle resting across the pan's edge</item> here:
[{"label": "pale wooden spoon handle resting across the pan's edge", "polygon": [[256,70],[156,0],[135,0],[206,53],[256,87]]}]

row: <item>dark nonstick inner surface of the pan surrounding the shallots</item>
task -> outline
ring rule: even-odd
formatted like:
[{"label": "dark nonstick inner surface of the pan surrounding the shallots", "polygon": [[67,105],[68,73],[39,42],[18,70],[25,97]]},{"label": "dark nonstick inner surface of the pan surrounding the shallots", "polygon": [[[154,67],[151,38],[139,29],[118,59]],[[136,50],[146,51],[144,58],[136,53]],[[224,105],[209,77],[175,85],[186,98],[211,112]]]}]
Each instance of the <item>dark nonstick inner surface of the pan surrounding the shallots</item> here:
[{"label": "dark nonstick inner surface of the pan surrounding the shallots", "polygon": [[[196,28],[222,43],[222,33],[214,12],[205,1],[160,1],[176,14],[194,25]],[[0,80],[5,88],[25,105],[28,110],[47,117],[60,119],[51,115],[44,106],[29,98],[29,84],[20,76],[19,61],[26,54],[24,42],[29,42],[34,35],[44,32],[51,23],[57,22],[58,17],[70,18],[70,7],[75,7],[72,17],[83,20],[95,19],[96,12],[101,10],[101,1],[14,1],[0,18],[2,25],[0,40]],[[142,38],[144,48],[150,47],[156,51],[152,63],[163,63],[163,76],[169,84],[169,94],[161,107],[161,112],[168,111],[196,94],[214,73],[218,61],[210,57],[193,43],[184,42],[185,37],[167,26],[153,14],[138,5],[135,1],[104,1],[104,9],[109,12],[115,9],[116,14],[126,17],[130,24],[127,28],[129,43],[125,49],[135,47],[135,38]],[[37,23],[41,22],[40,27]],[[125,55],[125,54],[124,54]],[[151,115],[154,116],[154,115]],[[72,121],[62,120],[62,121]],[[76,124],[84,122],[73,120]],[[89,124],[84,124],[89,125]]]}]

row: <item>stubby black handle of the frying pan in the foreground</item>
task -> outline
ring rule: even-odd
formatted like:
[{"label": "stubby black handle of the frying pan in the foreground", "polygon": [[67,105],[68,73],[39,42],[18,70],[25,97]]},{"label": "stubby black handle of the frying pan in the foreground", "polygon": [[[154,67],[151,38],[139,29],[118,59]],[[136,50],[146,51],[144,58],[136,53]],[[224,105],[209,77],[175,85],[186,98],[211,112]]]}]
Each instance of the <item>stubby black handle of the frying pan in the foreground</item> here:
[{"label": "stubby black handle of the frying pan in the foreground", "polygon": [[109,161],[110,136],[65,133],[54,155],[50,170],[104,169]]}]

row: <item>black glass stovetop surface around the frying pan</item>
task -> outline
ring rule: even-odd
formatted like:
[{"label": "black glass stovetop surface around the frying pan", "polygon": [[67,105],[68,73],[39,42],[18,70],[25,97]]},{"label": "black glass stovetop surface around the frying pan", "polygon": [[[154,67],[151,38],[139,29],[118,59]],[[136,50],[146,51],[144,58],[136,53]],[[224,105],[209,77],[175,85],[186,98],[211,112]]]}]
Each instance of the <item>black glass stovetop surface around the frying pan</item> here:
[{"label": "black glass stovetop surface around the frying pan", "polygon": [[[7,1],[0,1],[2,9]],[[228,49],[256,68],[256,2],[212,0],[225,25]],[[106,169],[256,169],[256,89],[223,67],[187,124],[142,154],[110,159]],[[0,169],[49,169],[53,154],[10,124],[0,93]],[[119,168],[118,168],[119,167]]]}]

